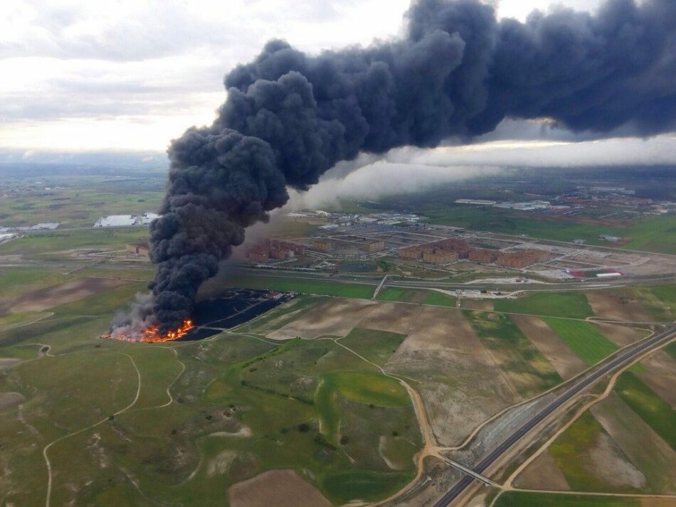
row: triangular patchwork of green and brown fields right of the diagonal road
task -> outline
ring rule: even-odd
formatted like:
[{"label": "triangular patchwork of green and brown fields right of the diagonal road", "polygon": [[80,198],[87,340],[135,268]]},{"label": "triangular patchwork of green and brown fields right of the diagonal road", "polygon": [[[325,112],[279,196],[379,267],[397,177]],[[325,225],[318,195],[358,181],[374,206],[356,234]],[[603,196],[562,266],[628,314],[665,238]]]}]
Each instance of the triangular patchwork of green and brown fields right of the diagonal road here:
[{"label": "triangular patchwork of green and brown fields right of the diagonal road", "polygon": [[670,361],[667,353],[655,351],[620,373],[613,390],[559,434],[516,484],[534,490],[673,494],[675,412],[641,380],[664,384],[672,374]]}]

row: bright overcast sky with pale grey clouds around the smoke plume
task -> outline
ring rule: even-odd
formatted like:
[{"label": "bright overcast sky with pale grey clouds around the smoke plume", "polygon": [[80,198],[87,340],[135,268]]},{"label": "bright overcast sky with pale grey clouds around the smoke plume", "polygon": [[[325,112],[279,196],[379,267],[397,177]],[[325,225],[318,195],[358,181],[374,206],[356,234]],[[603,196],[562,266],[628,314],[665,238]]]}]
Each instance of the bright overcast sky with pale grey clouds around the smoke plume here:
[{"label": "bright overcast sky with pale grey clouds around the smoke plume", "polygon": [[[534,8],[595,9],[600,3],[487,1],[497,5],[499,16],[522,20]],[[253,58],[268,39],[285,38],[310,53],[367,45],[376,38],[396,37],[408,4],[409,0],[0,2],[0,161],[101,151],[141,151],[164,161],[170,139],[192,124],[211,123],[225,99],[223,74]],[[514,138],[522,140],[509,141]],[[545,164],[584,156],[595,164],[626,157],[638,163],[673,162],[673,138],[571,144],[581,138],[543,124],[505,122],[478,144],[446,147],[425,156],[435,158],[436,165],[448,156],[459,157],[457,164],[475,165],[496,164],[498,159],[515,164],[537,164],[542,159]]]}]

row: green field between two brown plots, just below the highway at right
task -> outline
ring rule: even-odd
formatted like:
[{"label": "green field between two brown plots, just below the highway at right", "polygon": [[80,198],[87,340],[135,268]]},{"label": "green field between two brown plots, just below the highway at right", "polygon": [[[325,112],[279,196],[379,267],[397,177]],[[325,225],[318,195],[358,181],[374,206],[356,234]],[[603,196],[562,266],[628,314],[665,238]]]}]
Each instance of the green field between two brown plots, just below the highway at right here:
[{"label": "green field between two brown plots, just below the highway at right", "polygon": [[495,311],[511,314],[569,317],[585,319],[593,316],[583,292],[536,292],[519,299],[495,299]]}]

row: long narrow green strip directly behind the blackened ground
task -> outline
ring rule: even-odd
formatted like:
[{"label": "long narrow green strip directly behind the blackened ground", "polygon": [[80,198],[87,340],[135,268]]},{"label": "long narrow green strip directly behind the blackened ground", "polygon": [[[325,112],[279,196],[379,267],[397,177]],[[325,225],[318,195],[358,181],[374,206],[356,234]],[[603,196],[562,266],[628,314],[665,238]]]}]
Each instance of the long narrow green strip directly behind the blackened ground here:
[{"label": "long narrow green strip directly behind the blackened ground", "polygon": [[366,284],[348,284],[331,280],[310,280],[287,277],[253,277],[237,275],[223,282],[228,287],[247,287],[249,289],[269,289],[320,296],[354,297],[371,299],[375,286]]}]

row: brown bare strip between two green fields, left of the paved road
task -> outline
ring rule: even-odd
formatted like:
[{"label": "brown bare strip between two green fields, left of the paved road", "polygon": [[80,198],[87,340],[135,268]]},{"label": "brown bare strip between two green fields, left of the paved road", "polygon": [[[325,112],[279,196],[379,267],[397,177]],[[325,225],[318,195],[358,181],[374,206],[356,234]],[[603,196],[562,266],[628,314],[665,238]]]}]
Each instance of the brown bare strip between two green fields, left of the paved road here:
[{"label": "brown bare strip between two green fields, left of the paved road", "polygon": [[524,333],[542,355],[554,366],[554,369],[567,379],[574,377],[586,368],[579,356],[551,331],[539,317],[528,315],[510,315],[514,324]]}]

